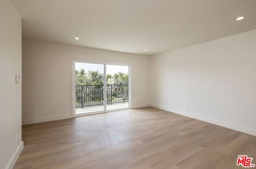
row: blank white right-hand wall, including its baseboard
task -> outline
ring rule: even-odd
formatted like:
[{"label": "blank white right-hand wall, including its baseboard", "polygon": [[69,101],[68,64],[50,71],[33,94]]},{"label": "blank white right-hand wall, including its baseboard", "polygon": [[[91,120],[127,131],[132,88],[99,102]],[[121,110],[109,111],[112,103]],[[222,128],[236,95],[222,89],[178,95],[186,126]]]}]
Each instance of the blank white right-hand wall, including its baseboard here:
[{"label": "blank white right-hand wall, including its baseboard", "polygon": [[151,66],[154,107],[256,135],[256,30],[151,56]]}]

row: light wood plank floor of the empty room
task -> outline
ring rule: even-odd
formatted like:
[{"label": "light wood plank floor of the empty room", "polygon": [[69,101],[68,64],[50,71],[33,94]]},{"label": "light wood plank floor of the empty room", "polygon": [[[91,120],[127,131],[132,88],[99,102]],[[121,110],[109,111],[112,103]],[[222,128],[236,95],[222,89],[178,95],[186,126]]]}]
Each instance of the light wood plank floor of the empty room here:
[{"label": "light wood plank floor of the empty room", "polygon": [[153,107],[22,126],[14,169],[237,169],[256,137]]}]

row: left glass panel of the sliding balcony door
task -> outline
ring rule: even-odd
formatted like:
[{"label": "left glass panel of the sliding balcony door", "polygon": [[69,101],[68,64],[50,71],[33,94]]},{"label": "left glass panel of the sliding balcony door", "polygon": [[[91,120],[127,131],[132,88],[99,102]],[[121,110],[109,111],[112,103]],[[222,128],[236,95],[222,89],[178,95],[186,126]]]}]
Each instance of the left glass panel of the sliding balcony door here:
[{"label": "left glass panel of the sliding balcony door", "polygon": [[104,64],[75,62],[75,113],[104,111]]}]

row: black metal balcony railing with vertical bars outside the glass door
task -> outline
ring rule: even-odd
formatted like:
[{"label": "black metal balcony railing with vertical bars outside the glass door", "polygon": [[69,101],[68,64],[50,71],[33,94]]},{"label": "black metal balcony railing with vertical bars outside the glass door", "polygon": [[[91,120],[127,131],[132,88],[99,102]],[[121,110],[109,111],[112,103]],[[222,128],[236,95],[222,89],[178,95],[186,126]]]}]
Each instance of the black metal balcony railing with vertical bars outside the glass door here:
[{"label": "black metal balcony railing with vertical bars outside the glass door", "polygon": [[[76,107],[104,104],[104,85],[76,85]],[[106,103],[129,101],[128,84],[106,85]]]}]

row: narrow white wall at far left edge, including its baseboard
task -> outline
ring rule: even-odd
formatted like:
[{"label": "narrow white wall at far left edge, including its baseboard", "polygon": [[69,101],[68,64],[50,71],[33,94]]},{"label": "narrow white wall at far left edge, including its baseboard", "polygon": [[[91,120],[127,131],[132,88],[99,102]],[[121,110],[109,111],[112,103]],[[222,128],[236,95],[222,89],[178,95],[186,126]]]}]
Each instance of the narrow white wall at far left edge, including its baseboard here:
[{"label": "narrow white wall at far left edge, including its baseboard", "polygon": [[[21,141],[21,18],[10,0],[0,1],[0,169],[12,168]],[[16,135],[19,135],[16,144]]]}]

